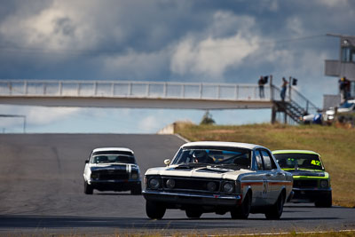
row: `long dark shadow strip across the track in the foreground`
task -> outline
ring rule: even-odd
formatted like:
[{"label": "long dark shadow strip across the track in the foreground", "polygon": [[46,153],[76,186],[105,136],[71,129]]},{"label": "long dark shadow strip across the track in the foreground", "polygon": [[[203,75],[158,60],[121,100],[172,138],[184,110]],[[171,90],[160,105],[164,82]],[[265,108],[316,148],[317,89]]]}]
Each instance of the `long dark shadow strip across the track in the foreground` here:
[{"label": "long dark shadow strip across the track in the foreground", "polygon": [[[317,218],[281,218],[280,221],[289,220],[314,220],[337,219],[333,217],[317,217]],[[103,228],[120,228],[120,229],[235,229],[243,228],[255,221],[269,221],[264,218],[249,218],[247,220],[233,220],[230,218],[166,218],[162,220],[151,220],[148,218],[133,217],[59,217],[59,216],[31,216],[31,215],[13,215],[0,216],[1,229],[16,228],[83,228],[83,227],[103,227]]]}]

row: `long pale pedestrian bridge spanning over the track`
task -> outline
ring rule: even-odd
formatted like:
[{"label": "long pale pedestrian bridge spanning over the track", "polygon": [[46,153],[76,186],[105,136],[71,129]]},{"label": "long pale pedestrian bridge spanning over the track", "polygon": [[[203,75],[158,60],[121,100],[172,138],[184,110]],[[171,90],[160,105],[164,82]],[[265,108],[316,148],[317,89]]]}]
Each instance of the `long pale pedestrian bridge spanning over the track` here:
[{"label": "long pale pedestrian bridge spanning over the track", "polygon": [[[0,104],[45,107],[272,108],[257,84],[0,80]],[[277,95],[278,96],[278,95]]]}]

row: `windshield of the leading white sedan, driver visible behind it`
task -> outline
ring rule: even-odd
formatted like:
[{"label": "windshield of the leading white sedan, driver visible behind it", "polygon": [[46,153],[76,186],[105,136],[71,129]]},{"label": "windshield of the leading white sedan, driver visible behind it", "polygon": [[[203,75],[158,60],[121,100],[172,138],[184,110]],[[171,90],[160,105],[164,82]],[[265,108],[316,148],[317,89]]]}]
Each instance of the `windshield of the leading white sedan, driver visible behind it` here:
[{"label": "windshield of the leading white sedan, driver visible behind it", "polygon": [[234,147],[187,146],[181,148],[171,164],[249,169],[250,150]]}]

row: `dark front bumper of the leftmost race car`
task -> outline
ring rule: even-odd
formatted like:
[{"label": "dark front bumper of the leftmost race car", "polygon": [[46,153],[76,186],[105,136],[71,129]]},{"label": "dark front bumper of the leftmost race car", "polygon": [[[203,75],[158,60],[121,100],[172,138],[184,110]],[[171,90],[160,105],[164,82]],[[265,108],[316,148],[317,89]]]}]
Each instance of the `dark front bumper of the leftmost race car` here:
[{"label": "dark front bumper of the leftmost race car", "polygon": [[91,180],[90,185],[99,191],[129,191],[141,186],[140,180]]}]

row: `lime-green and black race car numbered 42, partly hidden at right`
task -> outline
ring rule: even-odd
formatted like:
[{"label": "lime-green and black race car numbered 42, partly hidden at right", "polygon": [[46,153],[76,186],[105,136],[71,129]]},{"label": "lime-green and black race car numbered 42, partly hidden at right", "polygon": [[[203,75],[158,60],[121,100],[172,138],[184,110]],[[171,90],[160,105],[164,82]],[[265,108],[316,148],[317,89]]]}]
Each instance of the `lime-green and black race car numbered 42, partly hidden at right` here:
[{"label": "lime-green and black race car numbered 42, partly hidden at right", "polygon": [[292,202],[311,201],[316,207],[332,206],[330,177],[318,153],[304,150],[273,151],[282,170],[292,173],[294,184]]}]

